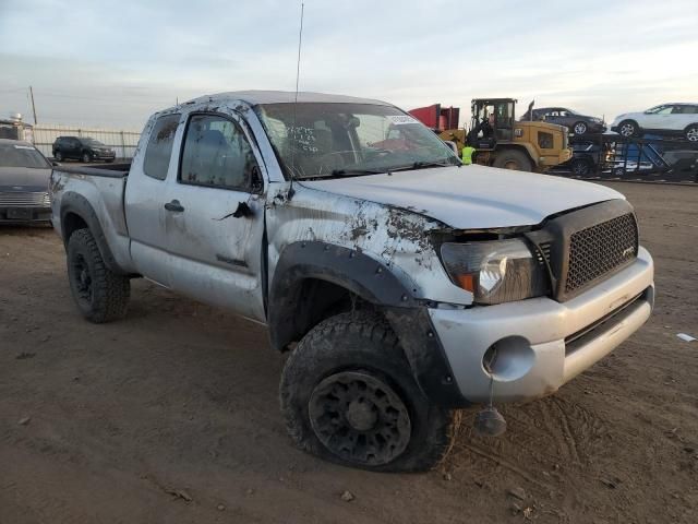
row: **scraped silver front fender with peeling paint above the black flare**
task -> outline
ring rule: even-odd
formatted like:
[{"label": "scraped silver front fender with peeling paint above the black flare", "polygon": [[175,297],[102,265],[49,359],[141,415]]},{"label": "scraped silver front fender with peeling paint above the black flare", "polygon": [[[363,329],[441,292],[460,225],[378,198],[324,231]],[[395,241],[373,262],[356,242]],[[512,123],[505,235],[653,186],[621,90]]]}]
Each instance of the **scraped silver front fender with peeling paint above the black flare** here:
[{"label": "scraped silver front fender with peeling paint above the black flare", "polygon": [[273,183],[267,204],[269,282],[285,248],[318,241],[363,253],[389,269],[414,299],[467,306],[472,295],[446,275],[431,233],[438,221],[413,211],[360,200],[293,182]]}]

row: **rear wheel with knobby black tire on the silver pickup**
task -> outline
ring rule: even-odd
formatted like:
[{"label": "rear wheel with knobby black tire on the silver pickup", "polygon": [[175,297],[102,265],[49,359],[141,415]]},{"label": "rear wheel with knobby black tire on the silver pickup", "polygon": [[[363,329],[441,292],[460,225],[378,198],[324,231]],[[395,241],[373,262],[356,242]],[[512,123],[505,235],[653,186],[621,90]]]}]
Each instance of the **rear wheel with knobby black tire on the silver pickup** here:
[{"label": "rear wheel with knobby black tire on the silver pickup", "polygon": [[[89,278],[88,291],[83,274]],[[68,240],[68,279],[73,300],[88,321],[101,324],[125,315],[131,282],[107,269],[89,229],[77,229]]]}]

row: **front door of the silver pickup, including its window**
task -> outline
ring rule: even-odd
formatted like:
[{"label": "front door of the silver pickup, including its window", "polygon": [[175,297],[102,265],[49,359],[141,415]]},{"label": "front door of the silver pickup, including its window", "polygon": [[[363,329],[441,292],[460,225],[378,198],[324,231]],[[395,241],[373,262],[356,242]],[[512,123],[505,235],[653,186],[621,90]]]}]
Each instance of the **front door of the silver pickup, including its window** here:
[{"label": "front door of the silver pickup, including its window", "polygon": [[261,155],[242,119],[189,116],[167,189],[171,287],[264,321]]}]

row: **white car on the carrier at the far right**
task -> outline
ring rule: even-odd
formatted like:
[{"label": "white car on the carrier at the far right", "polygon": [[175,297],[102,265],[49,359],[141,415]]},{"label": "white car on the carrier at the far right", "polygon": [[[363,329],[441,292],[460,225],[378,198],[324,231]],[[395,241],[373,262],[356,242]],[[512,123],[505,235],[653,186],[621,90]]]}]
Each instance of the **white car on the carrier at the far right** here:
[{"label": "white car on the carrier at the far right", "polygon": [[618,115],[611,130],[623,136],[639,136],[643,132],[679,134],[698,142],[698,104],[662,104],[642,112]]}]

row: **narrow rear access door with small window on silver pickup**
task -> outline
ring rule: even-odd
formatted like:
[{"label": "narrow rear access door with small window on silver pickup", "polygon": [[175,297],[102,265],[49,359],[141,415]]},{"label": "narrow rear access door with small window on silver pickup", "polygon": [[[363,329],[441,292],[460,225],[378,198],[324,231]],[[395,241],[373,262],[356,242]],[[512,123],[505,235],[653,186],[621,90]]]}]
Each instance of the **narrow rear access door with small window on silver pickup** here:
[{"label": "narrow rear access door with small window on silver pickup", "polygon": [[177,162],[170,162],[176,141],[181,136],[181,115],[157,117],[146,127],[152,129],[145,154],[135,156],[129,171],[124,207],[131,258],[143,276],[170,287],[169,254],[165,235],[165,204],[168,174],[176,176]]}]

